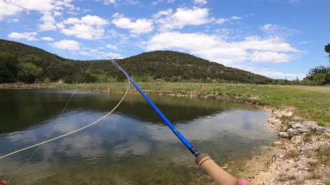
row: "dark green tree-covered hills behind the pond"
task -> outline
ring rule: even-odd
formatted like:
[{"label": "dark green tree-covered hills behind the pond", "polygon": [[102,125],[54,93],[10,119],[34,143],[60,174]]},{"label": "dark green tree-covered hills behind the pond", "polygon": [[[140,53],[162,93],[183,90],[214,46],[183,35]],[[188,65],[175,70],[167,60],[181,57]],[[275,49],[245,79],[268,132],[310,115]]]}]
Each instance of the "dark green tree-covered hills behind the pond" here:
[{"label": "dark green tree-covered hills behind the pond", "polygon": [[[271,84],[273,79],[176,51],[151,51],[116,60],[137,82],[230,82]],[[94,62],[85,82],[121,82],[124,75],[109,60],[68,60],[37,47],[0,40],[0,83],[77,83]]]}]

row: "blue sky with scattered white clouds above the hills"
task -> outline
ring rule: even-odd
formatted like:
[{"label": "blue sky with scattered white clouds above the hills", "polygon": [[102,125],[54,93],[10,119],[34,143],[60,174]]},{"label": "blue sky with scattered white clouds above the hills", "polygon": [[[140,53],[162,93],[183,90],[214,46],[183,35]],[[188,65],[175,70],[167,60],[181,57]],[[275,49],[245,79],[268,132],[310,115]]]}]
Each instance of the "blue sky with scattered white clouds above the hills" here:
[{"label": "blue sky with scattered white clouds above the hills", "polygon": [[74,60],[189,53],[274,79],[327,66],[329,0],[0,0],[0,38]]}]

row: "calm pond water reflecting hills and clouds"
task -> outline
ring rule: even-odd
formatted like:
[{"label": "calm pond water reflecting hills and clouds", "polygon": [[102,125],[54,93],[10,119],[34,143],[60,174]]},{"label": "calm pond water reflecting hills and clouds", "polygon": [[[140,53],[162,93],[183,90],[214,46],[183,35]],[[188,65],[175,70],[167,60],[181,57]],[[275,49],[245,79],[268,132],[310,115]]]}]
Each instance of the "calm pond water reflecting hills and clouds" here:
[{"label": "calm pond water reflecting hills and clouds", "polygon": [[[72,91],[0,90],[0,156],[45,139]],[[96,121],[120,94],[76,93],[51,138]],[[151,96],[177,129],[219,164],[239,168],[276,140],[269,114],[208,99]],[[30,149],[0,160],[10,177]],[[43,145],[12,184],[190,184],[203,171],[140,95],[128,95],[97,125]],[[203,182],[203,180],[201,180]]]}]

